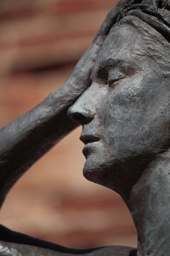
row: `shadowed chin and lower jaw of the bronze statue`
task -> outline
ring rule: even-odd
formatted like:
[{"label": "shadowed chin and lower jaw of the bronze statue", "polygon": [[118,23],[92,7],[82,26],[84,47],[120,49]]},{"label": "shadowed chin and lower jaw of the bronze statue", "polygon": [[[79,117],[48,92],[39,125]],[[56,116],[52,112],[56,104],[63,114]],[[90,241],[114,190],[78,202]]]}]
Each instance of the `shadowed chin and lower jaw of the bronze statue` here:
[{"label": "shadowed chin and lower jaw of the bronze statue", "polygon": [[[129,183],[135,182],[139,178],[139,174],[146,167],[145,162],[140,162],[139,159],[110,157],[102,158],[90,154],[87,157],[83,168],[83,176],[88,181],[108,187],[117,192],[117,186],[125,181]],[[123,184],[124,186],[124,184]]]}]

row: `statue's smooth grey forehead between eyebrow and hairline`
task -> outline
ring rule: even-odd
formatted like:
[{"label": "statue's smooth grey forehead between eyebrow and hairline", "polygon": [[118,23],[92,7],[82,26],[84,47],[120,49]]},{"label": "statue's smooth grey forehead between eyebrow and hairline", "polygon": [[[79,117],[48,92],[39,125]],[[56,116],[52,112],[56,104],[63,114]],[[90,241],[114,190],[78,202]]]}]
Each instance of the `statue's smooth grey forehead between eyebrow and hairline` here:
[{"label": "statue's smooth grey forehead between eyebrow and hairline", "polygon": [[142,34],[134,26],[117,23],[109,32],[98,54],[97,64],[112,58],[132,60],[144,51]]}]

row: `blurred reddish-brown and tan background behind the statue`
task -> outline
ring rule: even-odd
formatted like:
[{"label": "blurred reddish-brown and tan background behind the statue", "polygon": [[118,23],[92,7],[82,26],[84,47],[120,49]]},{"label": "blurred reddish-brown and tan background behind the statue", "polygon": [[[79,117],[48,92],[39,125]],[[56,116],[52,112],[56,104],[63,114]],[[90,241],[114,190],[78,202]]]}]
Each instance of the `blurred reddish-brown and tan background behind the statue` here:
[{"label": "blurred reddish-brown and tan background behind the statue", "polygon": [[[60,88],[116,3],[0,1],[1,127]],[[136,246],[123,200],[82,176],[80,132],[72,132],[20,178],[1,209],[1,224],[75,248]]]}]

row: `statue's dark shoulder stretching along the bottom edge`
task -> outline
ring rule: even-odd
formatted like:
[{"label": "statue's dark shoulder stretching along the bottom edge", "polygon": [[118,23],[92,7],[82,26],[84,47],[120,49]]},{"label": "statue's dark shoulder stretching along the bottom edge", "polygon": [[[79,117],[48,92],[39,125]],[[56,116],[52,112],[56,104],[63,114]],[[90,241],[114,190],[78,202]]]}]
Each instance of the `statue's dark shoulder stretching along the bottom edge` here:
[{"label": "statue's dark shoulder stretching along the bottom edge", "polygon": [[0,225],[0,256],[136,256],[136,249],[106,246],[93,249],[69,249],[17,233]]}]

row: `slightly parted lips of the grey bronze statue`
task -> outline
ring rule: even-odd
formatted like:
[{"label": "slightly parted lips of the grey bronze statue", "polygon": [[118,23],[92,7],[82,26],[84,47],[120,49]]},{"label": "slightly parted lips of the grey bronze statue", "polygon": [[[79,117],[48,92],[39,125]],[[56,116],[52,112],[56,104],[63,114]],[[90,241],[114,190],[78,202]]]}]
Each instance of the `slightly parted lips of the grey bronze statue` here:
[{"label": "slightly parted lips of the grey bronze statue", "polygon": [[82,134],[80,136],[80,140],[85,144],[85,147],[82,149],[82,154],[84,154],[85,158],[87,158],[88,154],[93,151],[93,143],[100,140],[100,138],[96,135]]}]

